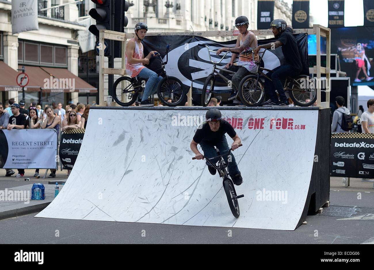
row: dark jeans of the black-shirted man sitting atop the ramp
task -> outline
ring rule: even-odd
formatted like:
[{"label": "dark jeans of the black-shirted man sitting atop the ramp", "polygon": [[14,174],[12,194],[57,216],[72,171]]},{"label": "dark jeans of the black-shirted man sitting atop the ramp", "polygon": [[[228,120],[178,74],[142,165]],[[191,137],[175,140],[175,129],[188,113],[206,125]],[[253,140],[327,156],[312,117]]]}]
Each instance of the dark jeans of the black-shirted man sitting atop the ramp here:
[{"label": "dark jeans of the black-shirted man sitting atop the ramp", "polygon": [[272,72],[268,72],[266,75],[272,79],[272,81],[265,78],[266,93],[270,96],[271,101],[278,102],[278,96],[275,90],[278,91],[279,99],[283,102],[287,101],[287,97],[284,93],[281,79],[287,76],[293,77],[300,74],[300,71],[291,67],[290,65],[281,65],[273,69]]}]

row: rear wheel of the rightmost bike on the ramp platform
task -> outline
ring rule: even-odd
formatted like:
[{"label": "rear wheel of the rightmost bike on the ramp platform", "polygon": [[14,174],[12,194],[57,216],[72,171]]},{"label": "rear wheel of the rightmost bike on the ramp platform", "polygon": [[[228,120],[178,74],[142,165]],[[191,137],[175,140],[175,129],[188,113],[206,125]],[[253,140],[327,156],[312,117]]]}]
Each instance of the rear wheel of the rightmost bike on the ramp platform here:
[{"label": "rear wheel of the rightmost bike on the ramp platform", "polygon": [[[313,79],[306,75],[300,75],[291,80],[289,85],[289,97],[295,105],[308,107],[317,100],[317,91]],[[310,99],[310,101],[306,101]]]}]

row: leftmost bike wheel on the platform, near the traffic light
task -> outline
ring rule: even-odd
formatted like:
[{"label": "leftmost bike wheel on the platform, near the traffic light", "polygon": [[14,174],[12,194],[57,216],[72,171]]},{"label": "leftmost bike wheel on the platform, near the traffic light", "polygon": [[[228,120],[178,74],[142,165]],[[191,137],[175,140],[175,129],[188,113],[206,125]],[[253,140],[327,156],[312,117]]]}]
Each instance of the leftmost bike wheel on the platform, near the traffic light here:
[{"label": "leftmost bike wheel on the platform, near the traffic light", "polygon": [[123,76],[114,82],[111,95],[118,105],[129,106],[137,100],[141,91],[142,87],[138,82],[134,82],[130,77]]}]

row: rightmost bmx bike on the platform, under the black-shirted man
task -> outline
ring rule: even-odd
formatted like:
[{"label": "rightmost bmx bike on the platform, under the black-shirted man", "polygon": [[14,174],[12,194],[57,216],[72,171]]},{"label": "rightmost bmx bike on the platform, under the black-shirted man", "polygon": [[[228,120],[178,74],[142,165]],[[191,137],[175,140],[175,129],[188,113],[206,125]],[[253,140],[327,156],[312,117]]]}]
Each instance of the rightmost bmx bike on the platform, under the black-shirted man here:
[{"label": "rightmost bmx bike on the platform, under the black-shirted man", "polygon": [[[264,78],[272,81],[263,71],[272,71],[267,68],[260,67],[261,60],[267,49],[262,53],[262,56],[258,61],[254,61],[257,65],[257,72],[245,76],[239,84],[239,97],[240,100],[247,106],[254,107],[261,105],[265,97]],[[248,53],[252,53],[252,59],[255,59],[254,52],[248,50]],[[283,86],[285,91],[288,91],[294,104],[301,107],[308,107],[312,105],[317,99],[317,93],[314,88],[313,79],[306,75],[299,75],[296,77],[287,76]],[[309,99],[310,101],[307,101]]]}]

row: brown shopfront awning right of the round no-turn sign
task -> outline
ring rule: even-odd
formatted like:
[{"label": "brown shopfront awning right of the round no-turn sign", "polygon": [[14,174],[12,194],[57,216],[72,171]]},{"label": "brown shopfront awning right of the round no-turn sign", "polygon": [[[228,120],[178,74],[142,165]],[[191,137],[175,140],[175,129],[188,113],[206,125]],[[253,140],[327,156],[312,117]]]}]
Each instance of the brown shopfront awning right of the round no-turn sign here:
[{"label": "brown shopfront awning right of the round no-turn sign", "polygon": [[[22,65],[19,65],[21,68]],[[25,73],[30,77],[30,83],[39,85],[39,90],[45,93],[97,93],[97,89],[83,79],[75,76],[67,68],[51,68],[26,66]],[[21,89],[22,90],[22,89]]]}]

